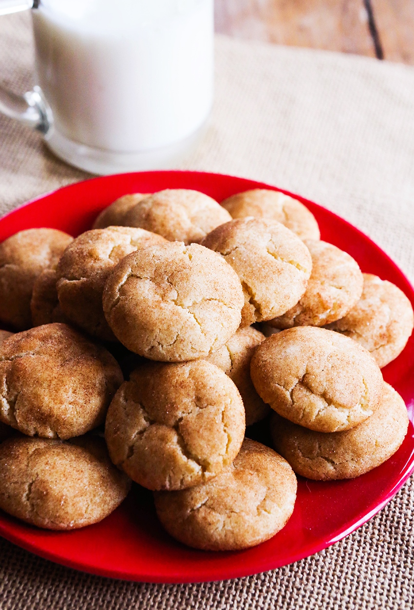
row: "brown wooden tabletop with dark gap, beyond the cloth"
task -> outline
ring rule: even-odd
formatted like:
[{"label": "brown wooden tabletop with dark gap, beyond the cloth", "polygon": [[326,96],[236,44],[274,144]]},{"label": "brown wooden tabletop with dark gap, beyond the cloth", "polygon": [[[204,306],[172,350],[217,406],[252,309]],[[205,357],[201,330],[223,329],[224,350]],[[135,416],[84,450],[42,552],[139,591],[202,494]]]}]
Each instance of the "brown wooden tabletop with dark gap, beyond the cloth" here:
[{"label": "brown wooden tabletop with dark gap, beyond the cloth", "polygon": [[414,0],[215,0],[216,31],[414,65]]}]

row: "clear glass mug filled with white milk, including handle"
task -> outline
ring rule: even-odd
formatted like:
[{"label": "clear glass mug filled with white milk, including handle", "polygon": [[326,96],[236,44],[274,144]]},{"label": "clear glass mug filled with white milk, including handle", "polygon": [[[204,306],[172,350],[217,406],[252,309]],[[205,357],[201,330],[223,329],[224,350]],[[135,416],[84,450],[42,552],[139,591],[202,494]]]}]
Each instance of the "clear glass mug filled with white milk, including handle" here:
[{"label": "clear glass mug filled with white milk, including handle", "polygon": [[213,0],[0,0],[32,9],[39,85],[0,111],[98,174],[171,166],[213,99]]}]

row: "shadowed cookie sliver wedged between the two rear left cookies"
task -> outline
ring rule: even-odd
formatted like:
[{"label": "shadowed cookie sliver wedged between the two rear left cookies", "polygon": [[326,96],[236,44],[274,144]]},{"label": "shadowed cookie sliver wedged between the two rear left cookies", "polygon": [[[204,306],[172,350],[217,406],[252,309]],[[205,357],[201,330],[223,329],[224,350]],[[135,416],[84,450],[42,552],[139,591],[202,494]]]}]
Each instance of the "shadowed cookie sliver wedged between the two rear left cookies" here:
[{"label": "shadowed cookie sliver wedged between the two rear left cookies", "polygon": [[57,273],[55,269],[45,269],[35,279],[32,299],[30,300],[33,326],[51,324],[52,322],[69,322],[62,309],[60,309],[56,281]]}]

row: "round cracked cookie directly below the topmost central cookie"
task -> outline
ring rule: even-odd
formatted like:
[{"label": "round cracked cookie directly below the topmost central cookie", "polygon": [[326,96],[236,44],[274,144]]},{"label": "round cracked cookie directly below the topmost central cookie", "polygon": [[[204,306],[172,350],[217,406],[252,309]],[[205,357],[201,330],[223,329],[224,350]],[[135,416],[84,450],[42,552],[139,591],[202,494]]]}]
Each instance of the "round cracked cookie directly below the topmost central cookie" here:
[{"label": "round cracked cookie directly below the topmost central cookie", "polygon": [[143,487],[185,489],[232,462],[245,427],[240,394],[221,369],[151,362],[113,398],[105,439],[114,464]]}]

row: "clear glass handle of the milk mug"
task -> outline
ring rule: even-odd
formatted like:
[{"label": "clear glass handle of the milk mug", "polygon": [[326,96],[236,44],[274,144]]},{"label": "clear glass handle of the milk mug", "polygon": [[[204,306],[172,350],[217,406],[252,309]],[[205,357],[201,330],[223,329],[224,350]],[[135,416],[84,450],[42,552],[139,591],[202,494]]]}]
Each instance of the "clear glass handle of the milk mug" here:
[{"label": "clear glass handle of the milk mug", "polygon": [[[40,0],[0,0],[0,15],[37,9],[39,4]],[[35,86],[24,95],[16,95],[0,84],[0,112],[37,129],[42,134],[49,131],[49,113],[40,87]]]}]

